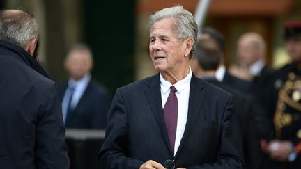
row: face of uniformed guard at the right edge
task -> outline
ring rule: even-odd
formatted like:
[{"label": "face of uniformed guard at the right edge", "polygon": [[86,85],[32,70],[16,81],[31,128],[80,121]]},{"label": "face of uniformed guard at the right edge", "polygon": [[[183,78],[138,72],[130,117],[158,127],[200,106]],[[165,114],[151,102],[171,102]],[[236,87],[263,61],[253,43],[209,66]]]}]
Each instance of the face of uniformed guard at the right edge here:
[{"label": "face of uniformed guard at the right edge", "polygon": [[301,63],[301,37],[288,38],[286,41],[286,50],[293,63]]}]

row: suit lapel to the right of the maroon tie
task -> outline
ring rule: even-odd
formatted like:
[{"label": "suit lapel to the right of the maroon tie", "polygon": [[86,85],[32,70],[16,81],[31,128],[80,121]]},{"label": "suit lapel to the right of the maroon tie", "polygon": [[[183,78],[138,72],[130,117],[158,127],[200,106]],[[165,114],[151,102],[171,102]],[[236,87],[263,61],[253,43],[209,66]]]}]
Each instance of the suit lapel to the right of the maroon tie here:
[{"label": "suit lapel to the right of the maroon tie", "polygon": [[190,82],[190,97],[189,97],[189,104],[188,104],[188,115],[187,115],[187,122],[185,126],[185,131],[183,137],[180,141],[180,146],[178,147],[178,151],[176,152],[176,156],[180,152],[185,143],[185,140],[189,137],[190,131],[194,127],[194,123],[196,122],[197,116],[199,115],[201,108],[201,103],[203,102],[204,93],[201,92],[203,86],[199,83],[199,79],[192,74],[192,79]]}]

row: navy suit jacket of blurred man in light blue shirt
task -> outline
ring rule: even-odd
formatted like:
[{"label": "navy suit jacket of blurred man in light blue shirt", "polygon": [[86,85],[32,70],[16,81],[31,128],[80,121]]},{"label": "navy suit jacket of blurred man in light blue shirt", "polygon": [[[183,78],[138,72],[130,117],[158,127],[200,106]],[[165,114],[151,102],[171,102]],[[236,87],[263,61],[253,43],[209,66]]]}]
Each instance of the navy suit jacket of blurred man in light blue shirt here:
[{"label": "navy suit jacket of blurred man in light blue shirt", "polygon": [[[60,86],[60,89],[63,98],[67,83]],[[67,129],[105,129],[110,105],[111,97],[107,88],[91,79],[75,110],[70,112],[65,127]]]}]

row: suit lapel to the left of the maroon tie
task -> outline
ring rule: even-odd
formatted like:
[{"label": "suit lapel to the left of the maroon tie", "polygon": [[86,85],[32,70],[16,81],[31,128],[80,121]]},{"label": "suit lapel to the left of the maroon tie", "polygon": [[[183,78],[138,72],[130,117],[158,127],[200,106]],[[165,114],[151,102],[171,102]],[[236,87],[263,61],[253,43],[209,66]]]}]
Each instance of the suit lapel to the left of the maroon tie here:
[{"label": "suit lapel to the left of the maroon tie", "polygon": [[161,100],[160,74],[155,75],[153,81],[151,81],[151,83],[148,84],[148,88],[146,89],[145,93],[148,99],[148,103],[151,106],[151,111],[153,112],[157,125],[161,131],[164,142],[167,145],[167,147],[169,147],[169,152],[173,156],[173,151],[171,151],[171,146],[169,145],[167,129],[164,123],[164,115]]}]

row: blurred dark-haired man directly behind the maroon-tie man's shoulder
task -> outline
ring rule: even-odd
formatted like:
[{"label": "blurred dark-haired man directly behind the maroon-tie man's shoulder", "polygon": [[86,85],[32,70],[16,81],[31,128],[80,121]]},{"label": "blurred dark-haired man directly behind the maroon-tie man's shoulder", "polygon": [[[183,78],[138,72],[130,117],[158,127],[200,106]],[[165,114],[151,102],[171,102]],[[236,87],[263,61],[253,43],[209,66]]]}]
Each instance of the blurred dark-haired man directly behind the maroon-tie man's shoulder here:
[{"label": "blurred dark-haired man directly behind the maroon-tie man's shoulder", "polygon": [[206,48],[211,40],[199,40],[196,52],[191,60],[192,72],[201,79],[230,92],[233,95],[234,110],[238,113],[242,144],[244,148],[245,164],[247,169],[255,169],[261,162],[259,137],[255,126],[255,110],[252,99],[220,81],[215,74],[220,65],[222,54],[219,50]]}]

